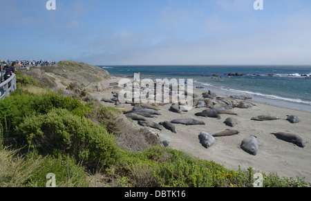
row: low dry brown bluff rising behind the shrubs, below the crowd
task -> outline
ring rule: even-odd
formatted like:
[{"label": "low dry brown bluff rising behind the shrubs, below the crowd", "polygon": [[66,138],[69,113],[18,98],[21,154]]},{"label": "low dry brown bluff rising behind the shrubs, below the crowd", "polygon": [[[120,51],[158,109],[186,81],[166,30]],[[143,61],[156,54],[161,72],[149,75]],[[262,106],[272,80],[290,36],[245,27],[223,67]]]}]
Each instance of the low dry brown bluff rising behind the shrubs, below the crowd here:
[{"label": "low dry brown bluff rising behind the shrubs, below the crowd", "polygon": [[108,71],[80,61],[59,61],[55,66],[33,66],[30,75],[44,85],[57,89],[102,92],[109,88],[111,75]]}]

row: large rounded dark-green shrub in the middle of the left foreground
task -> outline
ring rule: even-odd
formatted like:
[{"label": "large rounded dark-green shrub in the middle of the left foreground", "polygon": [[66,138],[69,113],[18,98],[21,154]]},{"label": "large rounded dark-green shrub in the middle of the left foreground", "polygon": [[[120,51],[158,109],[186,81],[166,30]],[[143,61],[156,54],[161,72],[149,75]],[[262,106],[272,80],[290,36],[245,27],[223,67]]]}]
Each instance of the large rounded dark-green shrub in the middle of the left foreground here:
[{"label": "large rounded dark-green shrub in the middle of the left foreground", "polygon": [[85,117],[66,109],[53,109],[46,115],[25,117],[17,133],[28,144],[39,147],[45,154],[69,154],[88,167],[109,164],[117,156],[113,135]]}]

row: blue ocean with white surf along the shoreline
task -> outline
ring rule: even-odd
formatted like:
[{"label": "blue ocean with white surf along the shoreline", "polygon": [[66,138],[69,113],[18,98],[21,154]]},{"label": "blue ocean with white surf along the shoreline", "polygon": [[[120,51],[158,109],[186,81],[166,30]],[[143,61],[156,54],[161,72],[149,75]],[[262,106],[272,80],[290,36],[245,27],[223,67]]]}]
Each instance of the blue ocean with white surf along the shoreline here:
[{"label": "blue ocean with white surf along the shoreline", "polygon": [[141,79],[193,79],[194,86],[221,95],[311,112],[311,66],[98,66],[111,75]]}]

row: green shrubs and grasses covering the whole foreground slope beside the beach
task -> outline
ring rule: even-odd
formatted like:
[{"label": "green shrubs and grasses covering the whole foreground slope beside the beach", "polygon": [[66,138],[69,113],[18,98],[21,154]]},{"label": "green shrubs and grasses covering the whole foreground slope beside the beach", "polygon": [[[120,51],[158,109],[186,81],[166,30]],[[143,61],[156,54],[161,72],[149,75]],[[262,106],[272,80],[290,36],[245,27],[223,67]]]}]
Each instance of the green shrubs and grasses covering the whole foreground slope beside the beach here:
[{"label": "green shrubs and grasses covering the whole foreground slope beside the beach", "polygon": [[[48,173],[55,174],[57,186],[245,187],[255,182],[252,167],[229,170],[161,146],[122,150],[115,140],[124,131],[117,123],[120,111],[23,83],[0,102],[0,138],[19,137],[15,146],[0,145],[0,186],[43,187]],[[104,179],[94,184],[97,174]],[[263,173],[263,179],[265,187],[310,186],[275,173]]]}]

